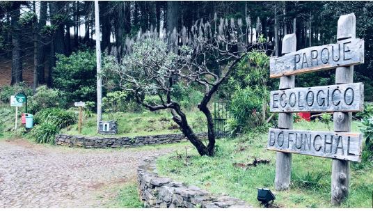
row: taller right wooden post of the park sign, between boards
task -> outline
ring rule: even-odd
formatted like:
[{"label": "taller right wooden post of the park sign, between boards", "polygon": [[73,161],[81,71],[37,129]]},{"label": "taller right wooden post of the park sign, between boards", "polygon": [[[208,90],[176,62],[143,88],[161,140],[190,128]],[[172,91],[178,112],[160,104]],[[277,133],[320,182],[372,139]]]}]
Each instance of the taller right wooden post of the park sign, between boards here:
[{"label": "taller right wooden post of the park sign, between boards", "polygon": [[[338,19],[338,42],[356,37],[356,17],[354,13],[342,15]],[[348,49],[344,49],[348,50]],[[354,81],[354,66],[337,68],[335,72],[335,84],[347,84]],[[333,122],[335,132],[351,131],[351,112],[334,112]],[[333,159],[331,171],[331,203],[340,205],[349,194],[349,161]]]}]

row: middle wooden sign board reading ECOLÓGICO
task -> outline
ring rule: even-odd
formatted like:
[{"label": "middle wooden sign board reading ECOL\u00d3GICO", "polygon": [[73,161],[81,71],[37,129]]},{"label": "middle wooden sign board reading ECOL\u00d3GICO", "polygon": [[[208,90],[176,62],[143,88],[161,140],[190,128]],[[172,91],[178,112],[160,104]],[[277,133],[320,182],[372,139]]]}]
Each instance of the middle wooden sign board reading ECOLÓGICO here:
[{"label": "middle wooden sign board reading ECOL\u00d3GICO", "polygon": [[363,111],[363,83],[271,91],[271,112]]}]

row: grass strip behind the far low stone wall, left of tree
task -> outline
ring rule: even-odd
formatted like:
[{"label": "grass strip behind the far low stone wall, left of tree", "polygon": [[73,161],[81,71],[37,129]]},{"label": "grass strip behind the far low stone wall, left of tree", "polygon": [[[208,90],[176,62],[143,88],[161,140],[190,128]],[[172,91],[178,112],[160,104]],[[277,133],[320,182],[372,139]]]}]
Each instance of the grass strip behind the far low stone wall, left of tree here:
[{"label": "grass strip behind the far low stone wall, left of tree", "polygon": [[[202,115],[203,114],[198,111],[190,111],[187,113],[189,123],[191,123],[192,127],[195,126],[196,132],[204,130],[200,128],[198,124],[196,124],[201,119]],[[103,114],[102,119],[118,121],[118,134],[115,136],[143,136],[181,133],[178,125],[172,120],[172,116],[168,111],[144,111],[143,113],[118,112],[116,114]],[[79,134],[77,123],[61,130],[61,133]],[[81,134],[87,136],[102,136],[96,133],[95,114],[92,117],[84,118]]]}]

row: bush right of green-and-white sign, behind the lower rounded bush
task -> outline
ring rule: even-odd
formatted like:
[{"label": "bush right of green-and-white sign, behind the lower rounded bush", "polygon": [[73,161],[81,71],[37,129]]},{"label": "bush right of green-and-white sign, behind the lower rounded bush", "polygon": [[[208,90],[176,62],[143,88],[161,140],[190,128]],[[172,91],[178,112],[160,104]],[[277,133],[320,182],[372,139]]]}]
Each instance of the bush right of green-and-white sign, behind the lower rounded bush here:
[{"label": "bush right of green-and-white sign, behind the lower rounded bush", "polygon": [[47,86],[40,86],[36,89],[35,95],[30,97],[29,112],[36,112],[47,108],[65,108],[68,104],[65,93]]}]

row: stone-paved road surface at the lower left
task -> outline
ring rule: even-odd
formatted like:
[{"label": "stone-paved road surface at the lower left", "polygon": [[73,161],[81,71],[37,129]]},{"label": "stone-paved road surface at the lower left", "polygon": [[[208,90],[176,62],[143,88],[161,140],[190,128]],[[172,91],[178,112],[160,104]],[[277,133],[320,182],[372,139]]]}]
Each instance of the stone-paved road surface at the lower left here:
[{"label": "stone-paved road surface at the lower left", "polygon": [[97,208],[113,196],[104,189],[136,179],[151,150],[95,150],[0,141],[0,208]]}]

